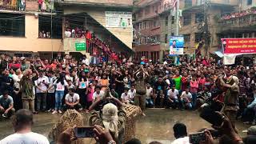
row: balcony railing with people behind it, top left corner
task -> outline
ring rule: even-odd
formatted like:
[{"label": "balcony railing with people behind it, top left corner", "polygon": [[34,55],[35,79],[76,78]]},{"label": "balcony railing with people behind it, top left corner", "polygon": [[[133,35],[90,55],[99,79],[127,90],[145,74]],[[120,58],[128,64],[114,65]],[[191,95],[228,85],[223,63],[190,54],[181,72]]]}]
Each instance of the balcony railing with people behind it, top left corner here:
[{"label": "balcony railing with people behind it, top left corner", "polygon": [[24,11],[26,0],[0,0],[0,10]]}]

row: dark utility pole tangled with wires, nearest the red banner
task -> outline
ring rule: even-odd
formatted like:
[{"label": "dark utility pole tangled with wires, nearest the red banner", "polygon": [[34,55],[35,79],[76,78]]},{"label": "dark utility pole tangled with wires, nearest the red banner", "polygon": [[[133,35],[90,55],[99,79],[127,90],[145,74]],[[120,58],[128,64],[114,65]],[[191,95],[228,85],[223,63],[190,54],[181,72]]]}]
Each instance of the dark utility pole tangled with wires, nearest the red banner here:
[{"label": "dark utility pole tangled with wires, nearest the red banner", "polygon": [[205,46],[206,46],[206,55],[209,54],[209,47],[210,47],[210,33],[209,33],[209,27],[208,27],[208,0],[204,3],[204,34],[203,39],[205,40]]}]

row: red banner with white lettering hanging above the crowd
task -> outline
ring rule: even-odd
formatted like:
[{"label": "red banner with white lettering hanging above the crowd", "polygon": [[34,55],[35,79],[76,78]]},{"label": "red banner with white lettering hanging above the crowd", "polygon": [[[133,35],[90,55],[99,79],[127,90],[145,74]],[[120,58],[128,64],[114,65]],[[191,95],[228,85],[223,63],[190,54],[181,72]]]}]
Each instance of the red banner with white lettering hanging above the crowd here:
[{"label": "red banner with white lettering hanging above the crowd", "polygon": [[256,38],[222,38],[224,54],[256,54]]}]

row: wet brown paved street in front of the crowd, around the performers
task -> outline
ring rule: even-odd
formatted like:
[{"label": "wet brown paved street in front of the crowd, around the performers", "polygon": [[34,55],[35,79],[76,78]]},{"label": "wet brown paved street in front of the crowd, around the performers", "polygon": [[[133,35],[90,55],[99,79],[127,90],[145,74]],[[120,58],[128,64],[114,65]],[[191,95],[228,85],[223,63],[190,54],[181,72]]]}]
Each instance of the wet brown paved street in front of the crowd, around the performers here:
[{"label": "wet brown paved street in front of the crowd, around the performers", "polygon": [[[38,114],[34,116],[34,131],[47,135],[51,130],[54,122],[58,121],[60,114]],[[86,114],[85,121],[87,119]],[[199,118],[197,111],[186,110],[165,110],[165,109],[149,109],[146,110],[146,117],[138,118],[136,125],[136,137],[141,139],[143,143],[153,140],[163,143],[174,139],[172,126],[175,122],[183,122],[186,124],[188,132],[196,132],[201,128],[210,128],[210,124]],[[85,122],[86,123],[86,122]],[[246,125],[238,122],[238,130],[246,129]],[[4,138],[8,134],[13,133],[10,120],[0,122],[0,138]]]}]

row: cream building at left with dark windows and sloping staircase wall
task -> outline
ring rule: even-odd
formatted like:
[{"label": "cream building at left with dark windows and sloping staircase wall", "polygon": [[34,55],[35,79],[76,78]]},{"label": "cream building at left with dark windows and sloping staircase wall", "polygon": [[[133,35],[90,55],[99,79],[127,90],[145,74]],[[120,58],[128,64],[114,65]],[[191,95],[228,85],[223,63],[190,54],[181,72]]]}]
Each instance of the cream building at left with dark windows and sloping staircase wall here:
[{"label": "cream building at left with dark windows and sloping staircase wall", "polygon": [[[46,0],[46,4],[42,4],[42,10],[38,10],[39,1],[18,2],[20,1],[0,0],[2,53],[18,56],[39,54],[46,58],[51,58],[52,52],[91,55],[92,50],[75,50],[75,44],[85,42],[85,38],[65,37],[67,22],[70,22],[73,29],[79,27],[90,30],[100,41],[107,42],[114,51],[132,53],[132,0]],[[130,18],[114,19],[110,15],[110,19],[106,19],[106,11],[116,15],[129,15]],[[120,26],[115,26],[118,20]],[[102,51],[102,47],[99,48],[98,45],[91,49],[98,53]]]}]

